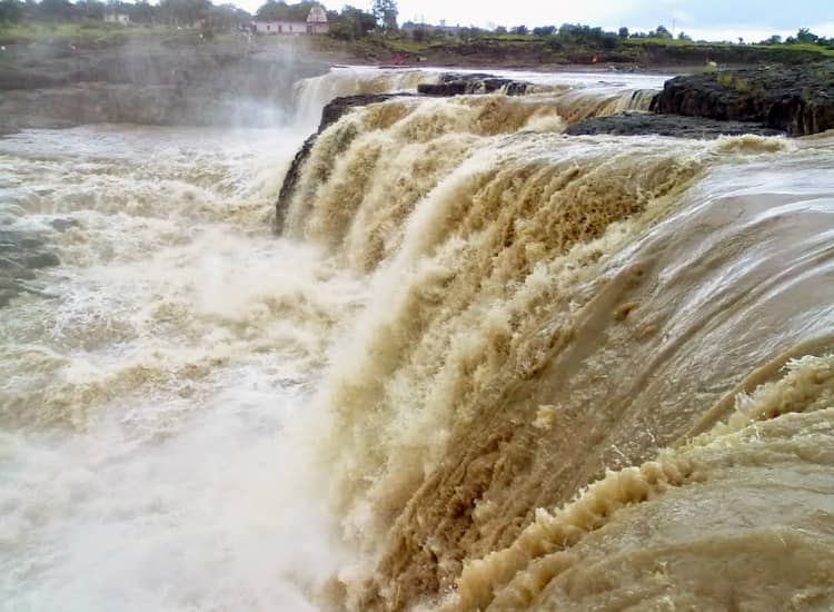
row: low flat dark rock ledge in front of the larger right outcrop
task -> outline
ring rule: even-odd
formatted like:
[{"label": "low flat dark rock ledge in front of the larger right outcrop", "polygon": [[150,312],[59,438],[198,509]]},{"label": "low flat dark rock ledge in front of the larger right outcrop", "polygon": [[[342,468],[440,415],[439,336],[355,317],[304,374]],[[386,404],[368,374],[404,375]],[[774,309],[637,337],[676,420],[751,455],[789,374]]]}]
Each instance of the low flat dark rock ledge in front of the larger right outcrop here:
[{"label": "low flat dark rock ledge in front of the larger right outcrop", "polygon": [[717,138],[718,136],[784,136],[782,130],[759,124],[741,121],[716,121],[702,117],[682,115],[647,115],[645,112],[624,112],[610,117],[595,117],[569,126],[565,134],[584,136],[610,134],[615,136],[658,135],[678,138]]}]

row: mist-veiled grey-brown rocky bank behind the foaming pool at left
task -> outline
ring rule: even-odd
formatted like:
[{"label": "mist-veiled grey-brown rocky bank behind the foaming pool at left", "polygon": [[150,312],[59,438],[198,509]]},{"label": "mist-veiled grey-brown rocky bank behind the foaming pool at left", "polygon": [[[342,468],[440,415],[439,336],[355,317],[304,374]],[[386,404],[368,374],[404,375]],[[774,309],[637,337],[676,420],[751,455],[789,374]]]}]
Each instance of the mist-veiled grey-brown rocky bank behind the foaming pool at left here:
[{"label": "mist-veiled grey-brown rocky bank behind the foaming pool at left", "polygon": [[304,41],[149,37],[122,46],[11,45],[0,53],[0,132],[95,122],[276,125],[292,83],[329,69]]}]

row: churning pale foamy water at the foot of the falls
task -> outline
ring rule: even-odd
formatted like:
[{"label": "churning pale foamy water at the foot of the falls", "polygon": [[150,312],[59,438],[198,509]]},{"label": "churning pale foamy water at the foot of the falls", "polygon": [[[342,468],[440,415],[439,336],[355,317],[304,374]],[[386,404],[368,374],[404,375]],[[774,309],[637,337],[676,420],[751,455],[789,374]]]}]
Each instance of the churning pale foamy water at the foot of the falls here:
[{"label": "churning pale foamy water at the foot of the falls", "polygon": [[0,140],[6,229],[61,261],[0,309],[0,609],[314,609],[339,554],[289,431],[365,282],[271,234],[297,142]]}]

